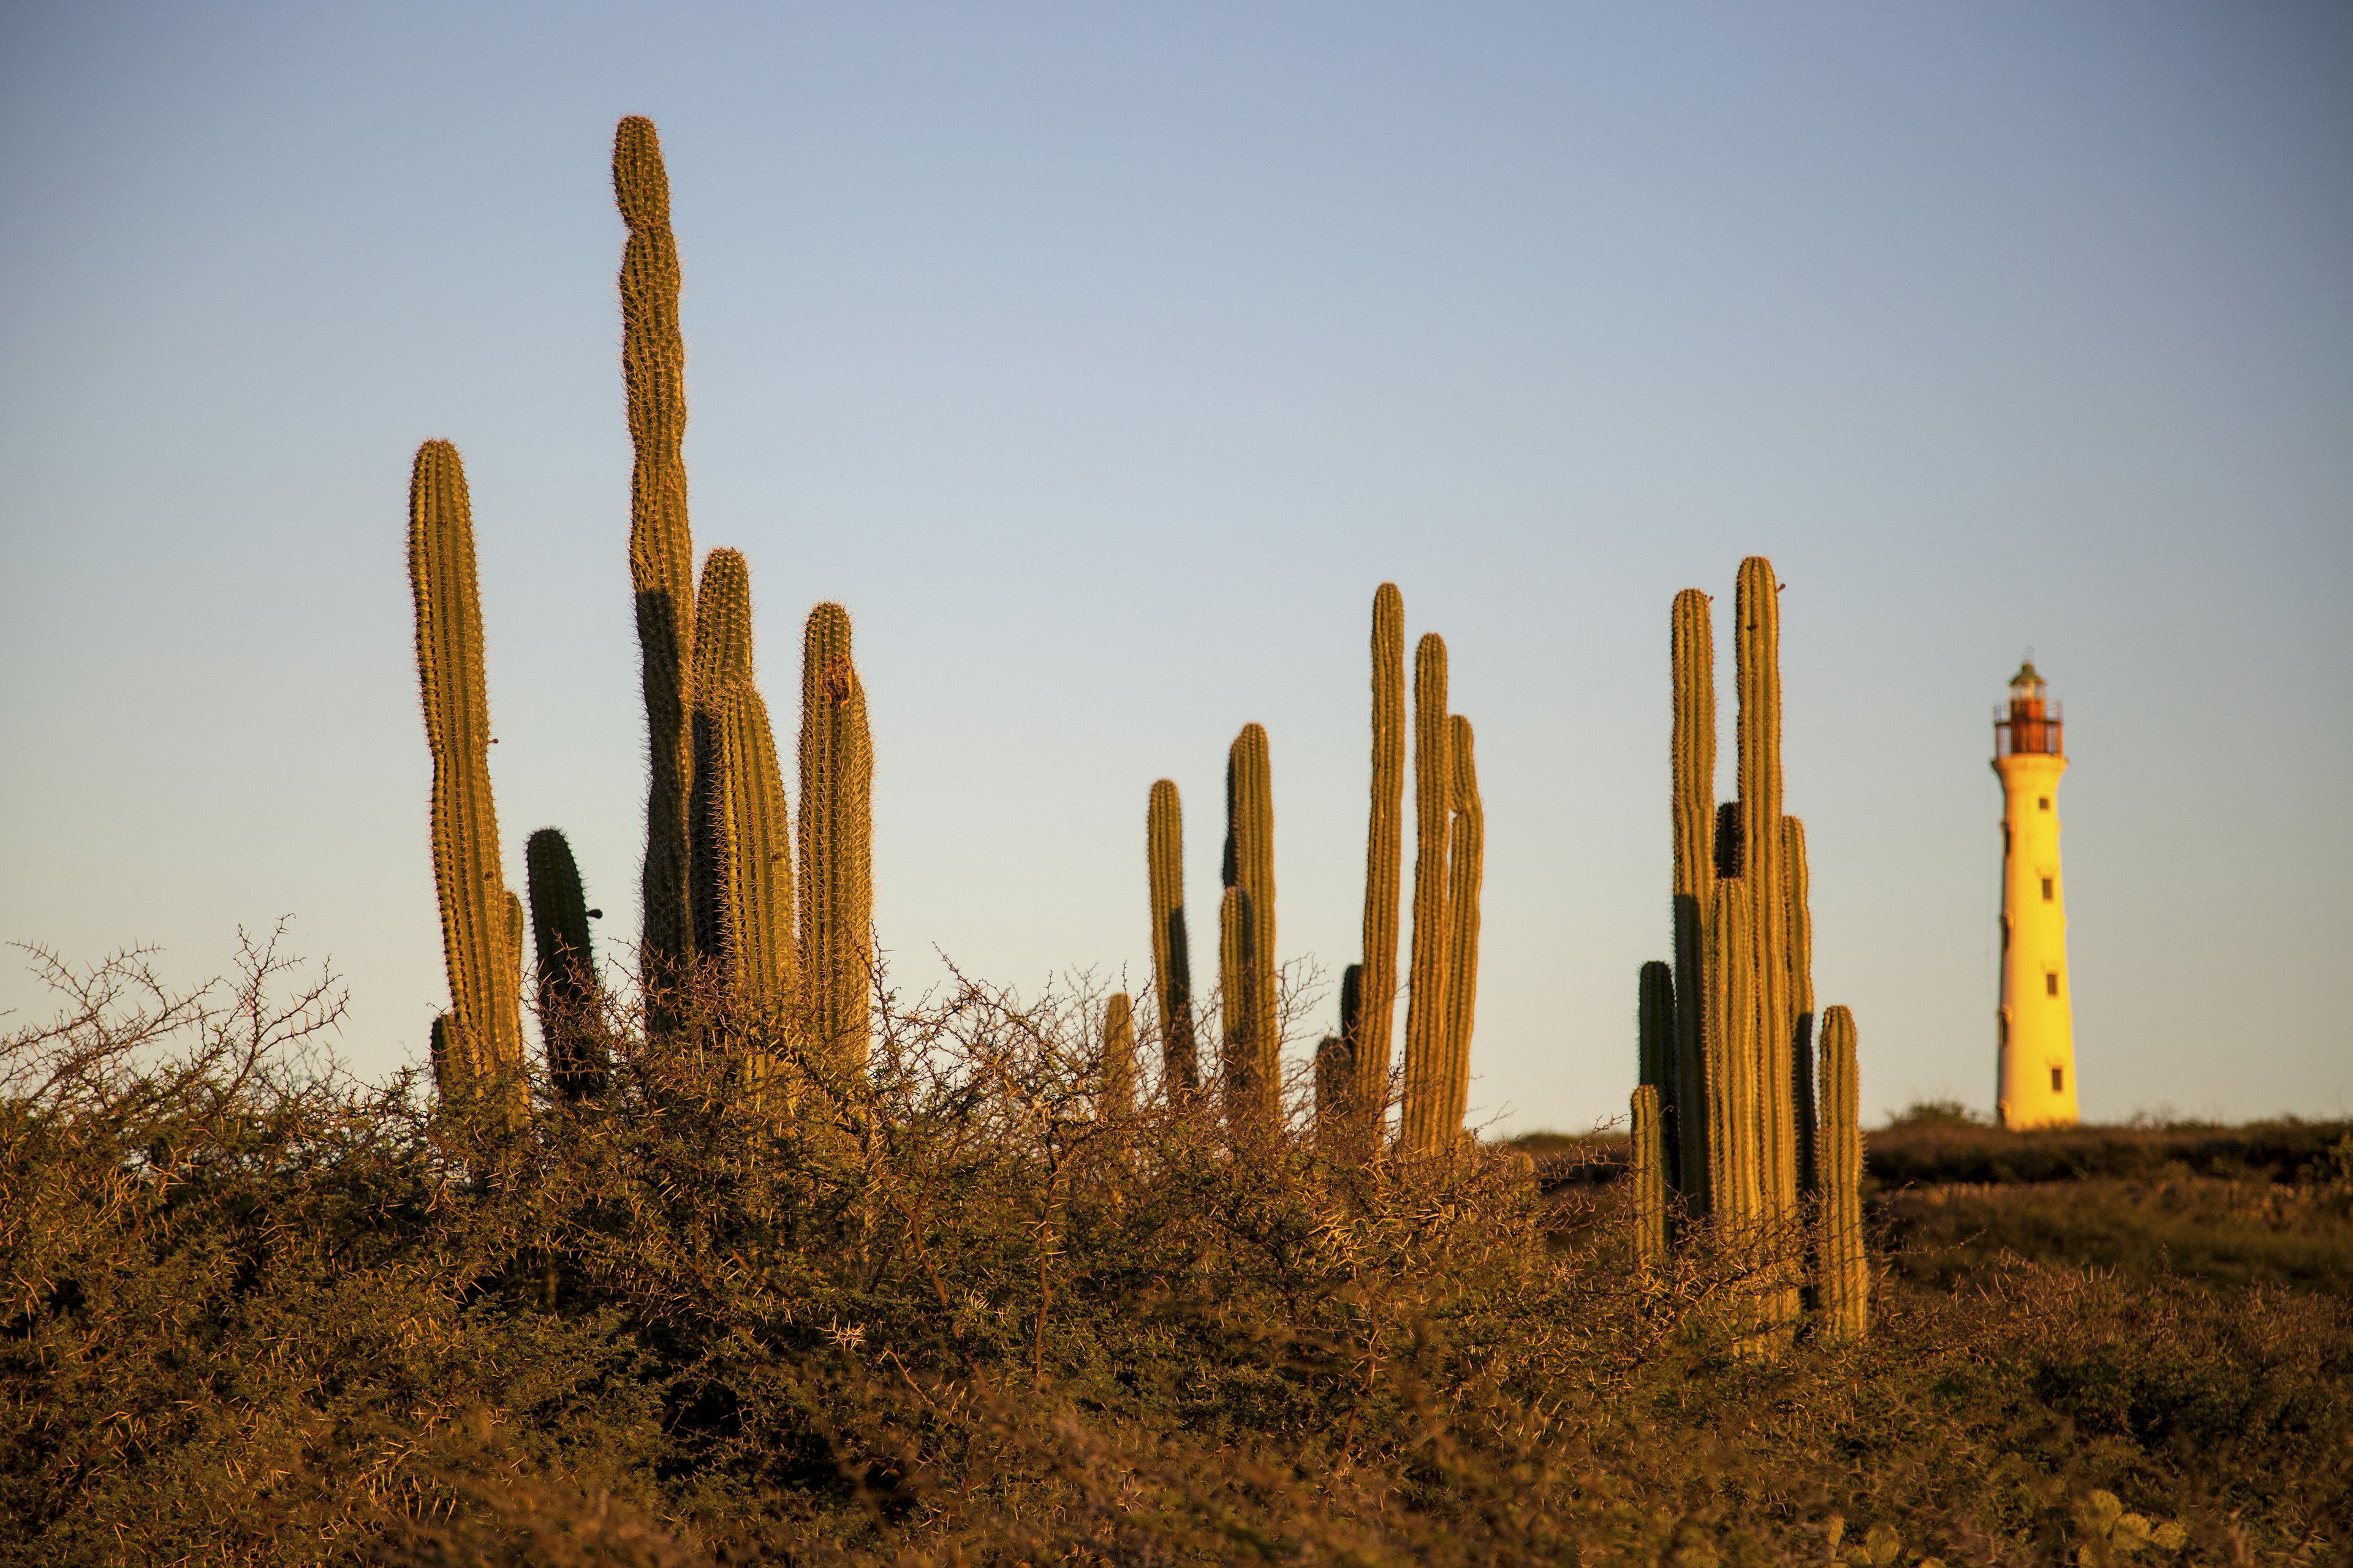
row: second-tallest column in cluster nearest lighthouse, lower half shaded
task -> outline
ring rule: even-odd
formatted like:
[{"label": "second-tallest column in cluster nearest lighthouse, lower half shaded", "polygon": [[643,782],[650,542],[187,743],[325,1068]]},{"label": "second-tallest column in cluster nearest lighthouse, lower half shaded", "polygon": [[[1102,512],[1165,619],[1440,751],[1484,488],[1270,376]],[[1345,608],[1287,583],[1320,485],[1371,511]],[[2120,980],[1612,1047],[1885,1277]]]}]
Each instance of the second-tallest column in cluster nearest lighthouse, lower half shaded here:
[{"label": "second-tallest column in cluster nearest lighthouse, lower half shaded", "polygon": [[1664,1117],[1673,1124],[1682,1204],[1708,1213],[1706,994],[1708,903],[1715,896],[1715,642],[1708,595],[1675,595],[1671,623],[1675,686],[1673,795],[1675,827],[1675,1070]]}]

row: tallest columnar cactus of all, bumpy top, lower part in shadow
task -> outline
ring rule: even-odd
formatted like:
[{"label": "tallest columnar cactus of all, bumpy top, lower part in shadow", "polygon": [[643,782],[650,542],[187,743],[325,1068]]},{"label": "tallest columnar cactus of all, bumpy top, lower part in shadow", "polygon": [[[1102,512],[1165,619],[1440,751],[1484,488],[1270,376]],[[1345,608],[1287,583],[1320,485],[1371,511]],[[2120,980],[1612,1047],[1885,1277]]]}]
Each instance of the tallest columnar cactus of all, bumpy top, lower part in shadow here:
[{"label": "tallest columnar cactus of all, bumpy top, lower part in shadow", "polygon": [[687,900],[687,797],[694,776],[687,712],[694,675],[694,541],[687,531],[687,346],[678,329],[678,244],[671,179],[654,122],[621,120],[612,193],[628,223],[621,252],[621,378],[628,390],[628,581],[638,597],[645,675],[645,959],[649,971],[694,947]]}]

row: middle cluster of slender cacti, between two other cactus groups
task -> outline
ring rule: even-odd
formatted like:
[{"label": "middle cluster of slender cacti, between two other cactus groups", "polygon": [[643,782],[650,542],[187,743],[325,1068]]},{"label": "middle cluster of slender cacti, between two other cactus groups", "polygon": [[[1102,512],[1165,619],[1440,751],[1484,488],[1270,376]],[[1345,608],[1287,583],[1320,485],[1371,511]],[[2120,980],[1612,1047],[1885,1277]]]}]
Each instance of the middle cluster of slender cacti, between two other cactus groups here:
[{"label": "middle cluster of slender cacti, between two other cactus groups", "polygon": [[[1485,811],[1471,722],[1447,712],[1447,644],[1414,651],[1414,950],[1405,1030],[1400,1147],[1438,1152],[1461,1131],[1478,1013],[1478,907]],[[1384,1143],[1405,802],[1405,597],[1372,599],[1372,818],[1365,846],[1365,957],[1341,976],[1339,1032],[1315,1048],[1318,1140],[1362,1159]],[[1245,724],[1226,755],[1226,865],[1219,903],[1219,1074],[1231,1121],[1268,1126],[1280,1100],[1282,1018],[1275,983],[1275,806],[1266,731]],[[1193,973],[1186,957],[1184,816],[1176,783],[1146,806],[1153,990],[1172,1093],[1200,1084]]]}]

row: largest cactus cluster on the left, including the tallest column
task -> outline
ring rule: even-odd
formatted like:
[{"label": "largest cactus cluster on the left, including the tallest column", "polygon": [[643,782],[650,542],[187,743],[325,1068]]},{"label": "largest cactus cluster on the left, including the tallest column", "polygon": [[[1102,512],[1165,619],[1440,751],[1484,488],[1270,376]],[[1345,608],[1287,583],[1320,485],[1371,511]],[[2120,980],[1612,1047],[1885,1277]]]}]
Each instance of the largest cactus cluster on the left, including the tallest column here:
[{"label": "largest cactus cluster on the left, including the tallest column", "polygon": [[[795,865],[784,771],[753,672],[751,569],[736,550],[713,550],[699,590],[692,574],[678,244],[649,120],[621,120],[612,176],[628,226],[621,364],[635,449],[628,564],[652,762],[640,938],[649,1016],[656,1027],[678,1023],[678,997],[715,980],[727,1039],[741,1041],[751,1081],[767,1084],[774,1070],[758,1041],[786,1032],[821,1074],[859,1072],[873,961],[873,741],[849,616],[819,604],[807,623]],[[525,912],[499,870],[473,517],[449,442],[416,451],[409,581],[452,999],[433,1025],[433,1072],[445,1100],[494,1093],[520,1117]],[[595,1095],[607,1072],[588,936],[598,912],[586,907],[562,832],[534,832],[525,860],[551,1081],[567,1098]],[[793,1091],[781,1084],[779,1105]]]}]

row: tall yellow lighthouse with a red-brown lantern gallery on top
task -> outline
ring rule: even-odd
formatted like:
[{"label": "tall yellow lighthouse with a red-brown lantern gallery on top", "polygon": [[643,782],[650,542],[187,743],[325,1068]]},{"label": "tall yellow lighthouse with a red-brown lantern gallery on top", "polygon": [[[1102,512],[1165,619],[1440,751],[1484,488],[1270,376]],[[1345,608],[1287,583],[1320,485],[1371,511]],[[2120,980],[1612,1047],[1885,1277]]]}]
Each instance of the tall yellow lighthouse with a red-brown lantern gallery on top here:
[{"label": "tall yellow lighthouse with a red-brown lantern gallery on top", "polygon": [[2075,1126],[2075,985],[2066,966],[2066,882],[2059,877],[2059,703],[2033,658],[1993,712],[2002,776],[2002,1009],[1995,1013],[2002,1126]]}]

